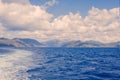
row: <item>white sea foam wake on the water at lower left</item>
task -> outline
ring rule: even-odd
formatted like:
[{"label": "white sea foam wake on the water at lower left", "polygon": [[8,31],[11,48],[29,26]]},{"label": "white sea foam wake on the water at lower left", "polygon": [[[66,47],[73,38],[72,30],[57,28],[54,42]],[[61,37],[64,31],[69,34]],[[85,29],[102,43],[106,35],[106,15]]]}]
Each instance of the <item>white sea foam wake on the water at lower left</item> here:
[{"label": "white sea foam wake on the water at lower left", "polygon": [[0,80],[29,80],[26,71],[32,67],[32,52],[13,50],[0,55]]}]

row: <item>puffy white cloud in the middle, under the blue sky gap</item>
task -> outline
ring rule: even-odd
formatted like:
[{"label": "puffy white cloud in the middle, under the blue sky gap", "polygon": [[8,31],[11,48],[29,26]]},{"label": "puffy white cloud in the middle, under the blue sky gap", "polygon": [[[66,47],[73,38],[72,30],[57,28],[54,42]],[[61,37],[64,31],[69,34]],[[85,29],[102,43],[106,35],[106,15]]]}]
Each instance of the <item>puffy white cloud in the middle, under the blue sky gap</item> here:
[{"label": "puffy white cloud in the middle, under the blue sky gap", "polygon": [[67,32],[83,32],[84,23],[79,13],[60,16],[54,19],[52,26],[56,30],[66,30]]}]

